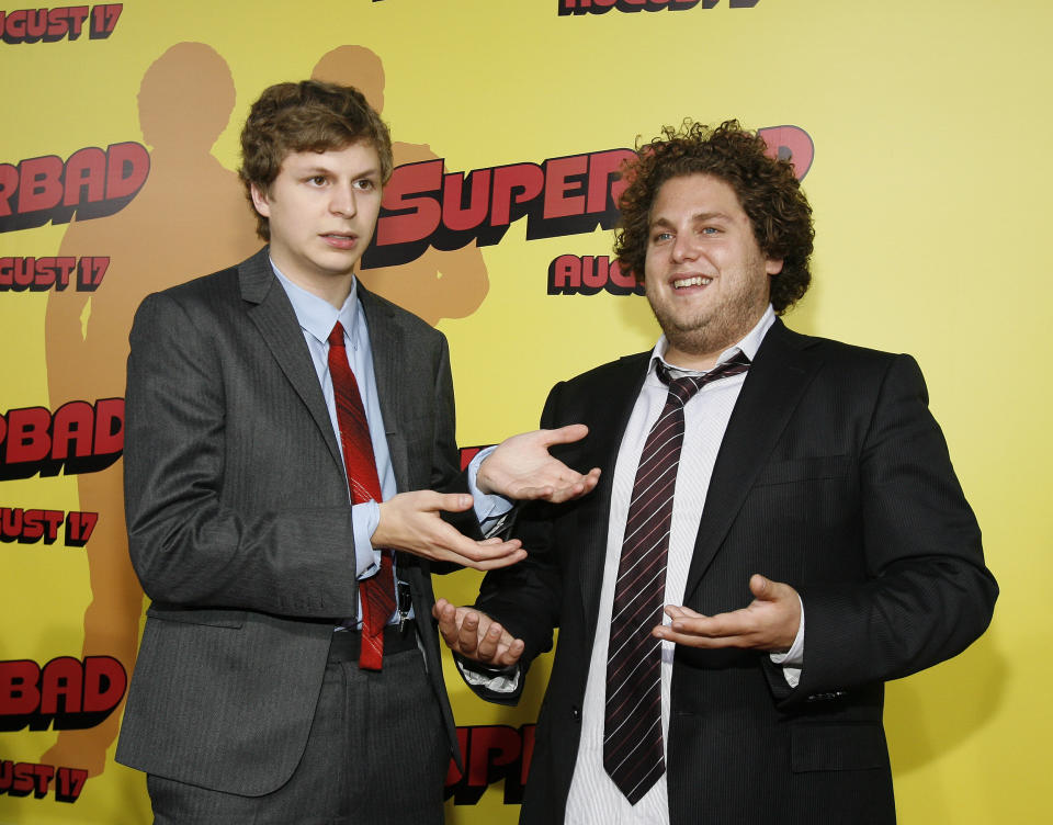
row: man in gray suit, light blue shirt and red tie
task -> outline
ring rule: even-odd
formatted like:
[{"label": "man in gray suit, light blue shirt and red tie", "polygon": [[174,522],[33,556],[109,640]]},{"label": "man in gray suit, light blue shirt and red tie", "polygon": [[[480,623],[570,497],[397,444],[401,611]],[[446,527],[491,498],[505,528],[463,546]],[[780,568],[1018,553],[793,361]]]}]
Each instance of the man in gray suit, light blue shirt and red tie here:
[{"label": "man in gray suit, light blue shirt and red tie", "polygon": [[158,823],[439,823],[457,747],[430,573],[520,561],[483,538],[508,508],[486,494],[592,489],[547,452],[585,428],[458,474],[445,339],[355,279],[392,174],[356,90],[271,87],[241,147],[269,246],[150,295],[132,329],[125,501],[151,604],[116,758]]}]

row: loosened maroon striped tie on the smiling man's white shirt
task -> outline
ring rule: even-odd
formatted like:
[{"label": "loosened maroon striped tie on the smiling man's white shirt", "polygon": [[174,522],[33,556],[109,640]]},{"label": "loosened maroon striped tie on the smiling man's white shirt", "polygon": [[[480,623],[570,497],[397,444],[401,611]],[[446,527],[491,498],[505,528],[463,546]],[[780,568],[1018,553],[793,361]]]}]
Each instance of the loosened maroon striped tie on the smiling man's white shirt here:
[{"label": "loosened maroon striped tie on the smiling man's white shirt", "polygon": [[603,716],[603,768],[633,805],[666,770],[661,642],[650,631],[661,624],[665,602],[672,498],[683,443],[683,405],[710,382],[747,369],[749,359],[741,353],[693,377],[670,380],[664,364],[657,364],[669,394],[641,453],[625,520],[611,613]]}]

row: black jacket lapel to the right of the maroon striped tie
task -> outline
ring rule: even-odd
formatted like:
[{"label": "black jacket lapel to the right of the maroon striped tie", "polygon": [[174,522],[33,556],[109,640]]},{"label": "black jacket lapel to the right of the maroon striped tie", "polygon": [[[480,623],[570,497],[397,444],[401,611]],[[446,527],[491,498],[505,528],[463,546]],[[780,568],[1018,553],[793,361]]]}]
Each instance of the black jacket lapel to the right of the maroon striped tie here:
[{"label": "black jacket lapel to the right of the maroon striped tie", "polygon": [[777,320],[746,374],[713,466],[688,570],[684,603],[702,580],[815,374],[816,364],[803,354],[807,346],[807,338]]}]

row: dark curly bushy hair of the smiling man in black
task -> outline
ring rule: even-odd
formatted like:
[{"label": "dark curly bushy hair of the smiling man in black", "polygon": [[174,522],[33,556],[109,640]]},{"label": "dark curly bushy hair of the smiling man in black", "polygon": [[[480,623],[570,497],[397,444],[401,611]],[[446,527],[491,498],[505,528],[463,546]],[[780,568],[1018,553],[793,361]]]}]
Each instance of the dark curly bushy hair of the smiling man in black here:
[{"label": "dark curly bushy hair of the smiling man in black", "polygon": [[686,120],[679,129],[636,147],[636,159],[623,170],[629,185],[619,199],[622,216],[614,234],[614,253],[623,272],[644,281],[650,210],[661,184],[687,174],[712,174],[735,190],[765,257],[782,259],[771,279],[771,304],[782,315],[808,289],[808,258],[815,231],[812,207],[789,160],[771,158],[762,137],[738,121],[716,128]]}]

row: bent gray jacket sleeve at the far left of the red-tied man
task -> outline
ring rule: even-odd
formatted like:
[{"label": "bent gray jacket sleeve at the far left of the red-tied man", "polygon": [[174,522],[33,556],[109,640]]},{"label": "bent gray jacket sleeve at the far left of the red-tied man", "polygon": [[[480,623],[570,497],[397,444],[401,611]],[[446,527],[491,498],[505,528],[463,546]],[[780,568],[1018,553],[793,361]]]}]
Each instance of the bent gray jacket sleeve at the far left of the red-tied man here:
[{"label": "bent gray jacket sleeve at the far left of the red-tied man", "polygon": [[[129,552],[144,590],[174,607],[353,615],[350,505],[229,504],[237,497],[228,486],[252,484],[227,475],[229,417],[260,411],[227,397],[215,339],[170,296],[149,296],[136,313],[124,470]],[[259,450],[258,475],[290,457]]]}]

